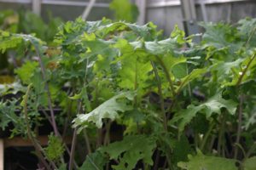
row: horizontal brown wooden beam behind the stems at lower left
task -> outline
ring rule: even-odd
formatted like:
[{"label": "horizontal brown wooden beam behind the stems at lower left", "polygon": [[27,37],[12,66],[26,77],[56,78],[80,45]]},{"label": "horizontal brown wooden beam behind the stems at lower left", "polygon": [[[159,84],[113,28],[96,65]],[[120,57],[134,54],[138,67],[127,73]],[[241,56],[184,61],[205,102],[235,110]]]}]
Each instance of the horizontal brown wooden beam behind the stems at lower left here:
[{"label": "horizontal brown wooden beam behind the stems at lower left", "polygon": [[[48,144],[48,136],[39,136],[38,141],[41,145],[47,145]],[[15,137],[12,139],[3,139],[4,141],[4,148],[8,147],[32,147],[33,144],[29,139],[23,139],[21,137]],[[71,137],[66,137],[64,138],[64,142],[66,144],[71,144],[72,143],[72,138]],[[0,168],[1,170],[1,168]]]}]

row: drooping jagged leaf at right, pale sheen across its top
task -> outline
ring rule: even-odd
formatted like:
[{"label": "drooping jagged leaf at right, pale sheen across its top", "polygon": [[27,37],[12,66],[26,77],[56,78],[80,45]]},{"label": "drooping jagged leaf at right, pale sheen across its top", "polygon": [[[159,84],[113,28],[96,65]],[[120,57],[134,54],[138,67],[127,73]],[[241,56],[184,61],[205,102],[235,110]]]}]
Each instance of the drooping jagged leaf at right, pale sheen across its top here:
[{"label": "drooping jagged leaf at right, pale sheen across its top", "polygon": [[207,118],[210,118],[214,113],[221,114],[221,109],[226,108],[231,115],[235,115],[236,105],[233,100],[223,99],[221,94],[217,94],[201,105],[189,105],[186,110],[177,112],[169,123],[177,123],[178,130],[183,132],[184,127],[192,121],[197,113],[202,112]]}]

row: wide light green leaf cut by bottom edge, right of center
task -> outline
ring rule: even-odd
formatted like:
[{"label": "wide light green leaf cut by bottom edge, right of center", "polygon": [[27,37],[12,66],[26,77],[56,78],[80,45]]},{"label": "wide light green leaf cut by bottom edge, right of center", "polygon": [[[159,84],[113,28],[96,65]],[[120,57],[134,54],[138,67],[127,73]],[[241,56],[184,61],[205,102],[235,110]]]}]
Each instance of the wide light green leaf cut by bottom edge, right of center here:
[{"label": "wide light green leaf cut by bottom edge, right of center", "polygon": [[238,170],[236,160],[216,156],[204,156],[197,150],[196,156],[189,155],[189,161],[180,161],[177,167],[185,170]]}]

